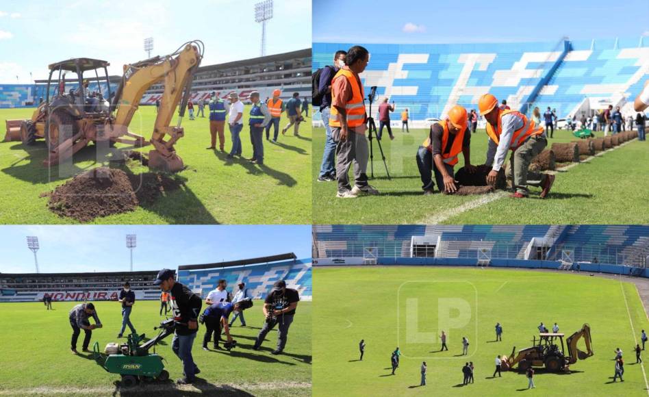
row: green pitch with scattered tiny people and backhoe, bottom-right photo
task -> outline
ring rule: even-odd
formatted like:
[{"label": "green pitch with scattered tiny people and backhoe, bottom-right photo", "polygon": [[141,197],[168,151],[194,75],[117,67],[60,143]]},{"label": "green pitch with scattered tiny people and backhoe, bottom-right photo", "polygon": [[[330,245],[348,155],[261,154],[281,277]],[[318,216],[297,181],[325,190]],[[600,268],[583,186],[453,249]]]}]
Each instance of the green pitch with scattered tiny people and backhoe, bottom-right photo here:
[{"label": "green pitch with scattered tiny people and backhoe, bottom-right photo", "polygon": [[[572,364],[570,374],[539,370],[536,389],[528,393],[648,393],[645,368],[635,364],[632,348],[649,321],[633,283],[584,273],[423,266],[314,268],[314,277],[314,396],[516,396],[526,389],[526,377],[503,372],[492,379],[494,360],[510,355],[513,346],[531,346],[539,322],[548,328],[557,322],[566,337],[588,323],[594,356]],[[496,322],[503,327],[502,342],[493,342]],[[444,352],[435,339],[441,329],[448,334]],[[463,357],[462,336],[470,341]],[[358,361],[361,339],[367,346]],[[396,346],[402,356],[392,376]],[[624,383],[611,383],[618,347],[626,363]],[[583,340],[578,348],[585,350]],[[422,361],[428,364],[427,386],[416,387]],[[462,387],[466,361],[474,363],[475,383]]]}]

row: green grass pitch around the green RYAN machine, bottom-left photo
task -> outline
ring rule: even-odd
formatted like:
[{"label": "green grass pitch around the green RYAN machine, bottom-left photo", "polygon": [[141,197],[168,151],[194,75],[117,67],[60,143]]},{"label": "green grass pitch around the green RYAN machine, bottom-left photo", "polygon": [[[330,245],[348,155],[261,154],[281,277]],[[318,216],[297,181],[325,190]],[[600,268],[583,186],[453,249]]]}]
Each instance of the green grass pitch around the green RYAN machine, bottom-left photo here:
[{"label": "green grass pitch around the green RYAN machine, bottom-left photo", "polygon": [[[70,353],[72,329],[68,311],[75,304],[54,302],[53,311],[45,310],[42,303],[0,305],[4,357],[0,366],[0,396],[115,395],[115,383],[120,376],[105,372],[92,355],[81,353],[83,331],[77,342],[79,355]],[[116,338],[121,326],[120,304],[104,301],[94,305],[103,328],[92,331],[91,348],[94,342],[99,342],[101,351],[108,342],[125,343],[126,339]],[[136,302],[131,322],[138,333],[146,333],[147,337],[157,335],[153,326],[164,319],[164,316],[159,316],[159,307],[157,301]],[[231,329],[238,346],[230,353],[226,350],[202,350],[205,327],[199,324],[192,354],[201,369],[199,378],[206,382],[182,389],[173,385],[172,381],[181,378],[183,370],[180,359],[171,350],[173,335],[169,335],[155,351],[164,357],[170,381],[138,385],[130,394],[194,396],[218,392],[219,395],[236,396],[310,396],[311,303],[303,301],[298,305],[285,354],[279,356],[270,355],[277,341],[276,330],[268,333],[262,350],[251,349],[264,322],[260,302],[255,301],[255,306],[245,314],[248,327],[238,326],[240,322],[236,320]],[[212,344],[208,346],[212,347]],[[125,393],[129,395],[129,392],[122,391],[122,395]]]}]

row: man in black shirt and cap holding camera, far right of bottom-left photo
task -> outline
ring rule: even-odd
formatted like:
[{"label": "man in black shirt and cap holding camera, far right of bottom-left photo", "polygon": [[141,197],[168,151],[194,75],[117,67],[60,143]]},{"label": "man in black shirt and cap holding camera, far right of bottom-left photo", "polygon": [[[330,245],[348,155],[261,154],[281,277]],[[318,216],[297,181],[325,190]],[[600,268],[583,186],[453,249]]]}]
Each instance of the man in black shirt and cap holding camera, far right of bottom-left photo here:
[{"label": "man in black shirt and cap holding camera, far right of bottom-left photo", "polygon": [[279,326],[277,348],[270,354],[280,355],[282,353],[286,346],[288,329],[293,322],[293,316],[295,315],[295,309],[299,300],[300,296],[297,290],[287,288],[286,282],[283,280],[275,281],[275,284],[272,286],[272,291],[266,296],[264,307],[262,307],[266,322],[264,322],[262,330],[257,335],[253,350],[259,350],[268,331],[273,329],[277,324]]}]

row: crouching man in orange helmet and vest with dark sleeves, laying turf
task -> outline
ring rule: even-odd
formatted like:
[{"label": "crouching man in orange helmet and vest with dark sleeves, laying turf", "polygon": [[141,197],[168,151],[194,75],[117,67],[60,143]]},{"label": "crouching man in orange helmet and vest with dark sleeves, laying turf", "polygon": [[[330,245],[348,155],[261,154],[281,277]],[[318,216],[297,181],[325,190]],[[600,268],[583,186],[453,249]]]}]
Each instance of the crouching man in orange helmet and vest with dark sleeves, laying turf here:
[{"label": "crouching man in orange helmet and vest with dark sleeves, laying turf", "polygon": [[455,105],[450,108],[445,120],[431,125],[429,137],[419,146],[417,166],[424,195],[433,194],[433,172],[440,192],[453,193],[457,190],[453,166],[457,164],[460,152],[464,157],[464,168],[468,172],[476,170],[471,165],[470,144],[471,133],[467,127],[466,109]]}]

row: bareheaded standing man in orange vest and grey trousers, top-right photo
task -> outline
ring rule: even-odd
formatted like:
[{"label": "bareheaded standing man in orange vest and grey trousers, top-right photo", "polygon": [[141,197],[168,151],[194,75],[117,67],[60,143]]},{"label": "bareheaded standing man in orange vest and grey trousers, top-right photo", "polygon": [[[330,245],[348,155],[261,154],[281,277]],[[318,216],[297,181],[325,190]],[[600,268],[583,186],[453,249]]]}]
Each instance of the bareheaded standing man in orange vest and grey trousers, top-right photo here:
[{"label": "bareheaded standing man in orange vest and grey trousers, top-right photo", "polygon": [[[370,53],[361,46],[347,51],[345,66],[331,80],[331,115],[329,127],[336,142],[335,177],[338,179],[338,194],[342,199],[353,199],[359,193],[379,194],[368,183],[366,175],[370,150],[365,136],[367,115],[365,92],[359,73],[365,71]],[[354,165],[354,187],[349,183],[347,173]]]}]

